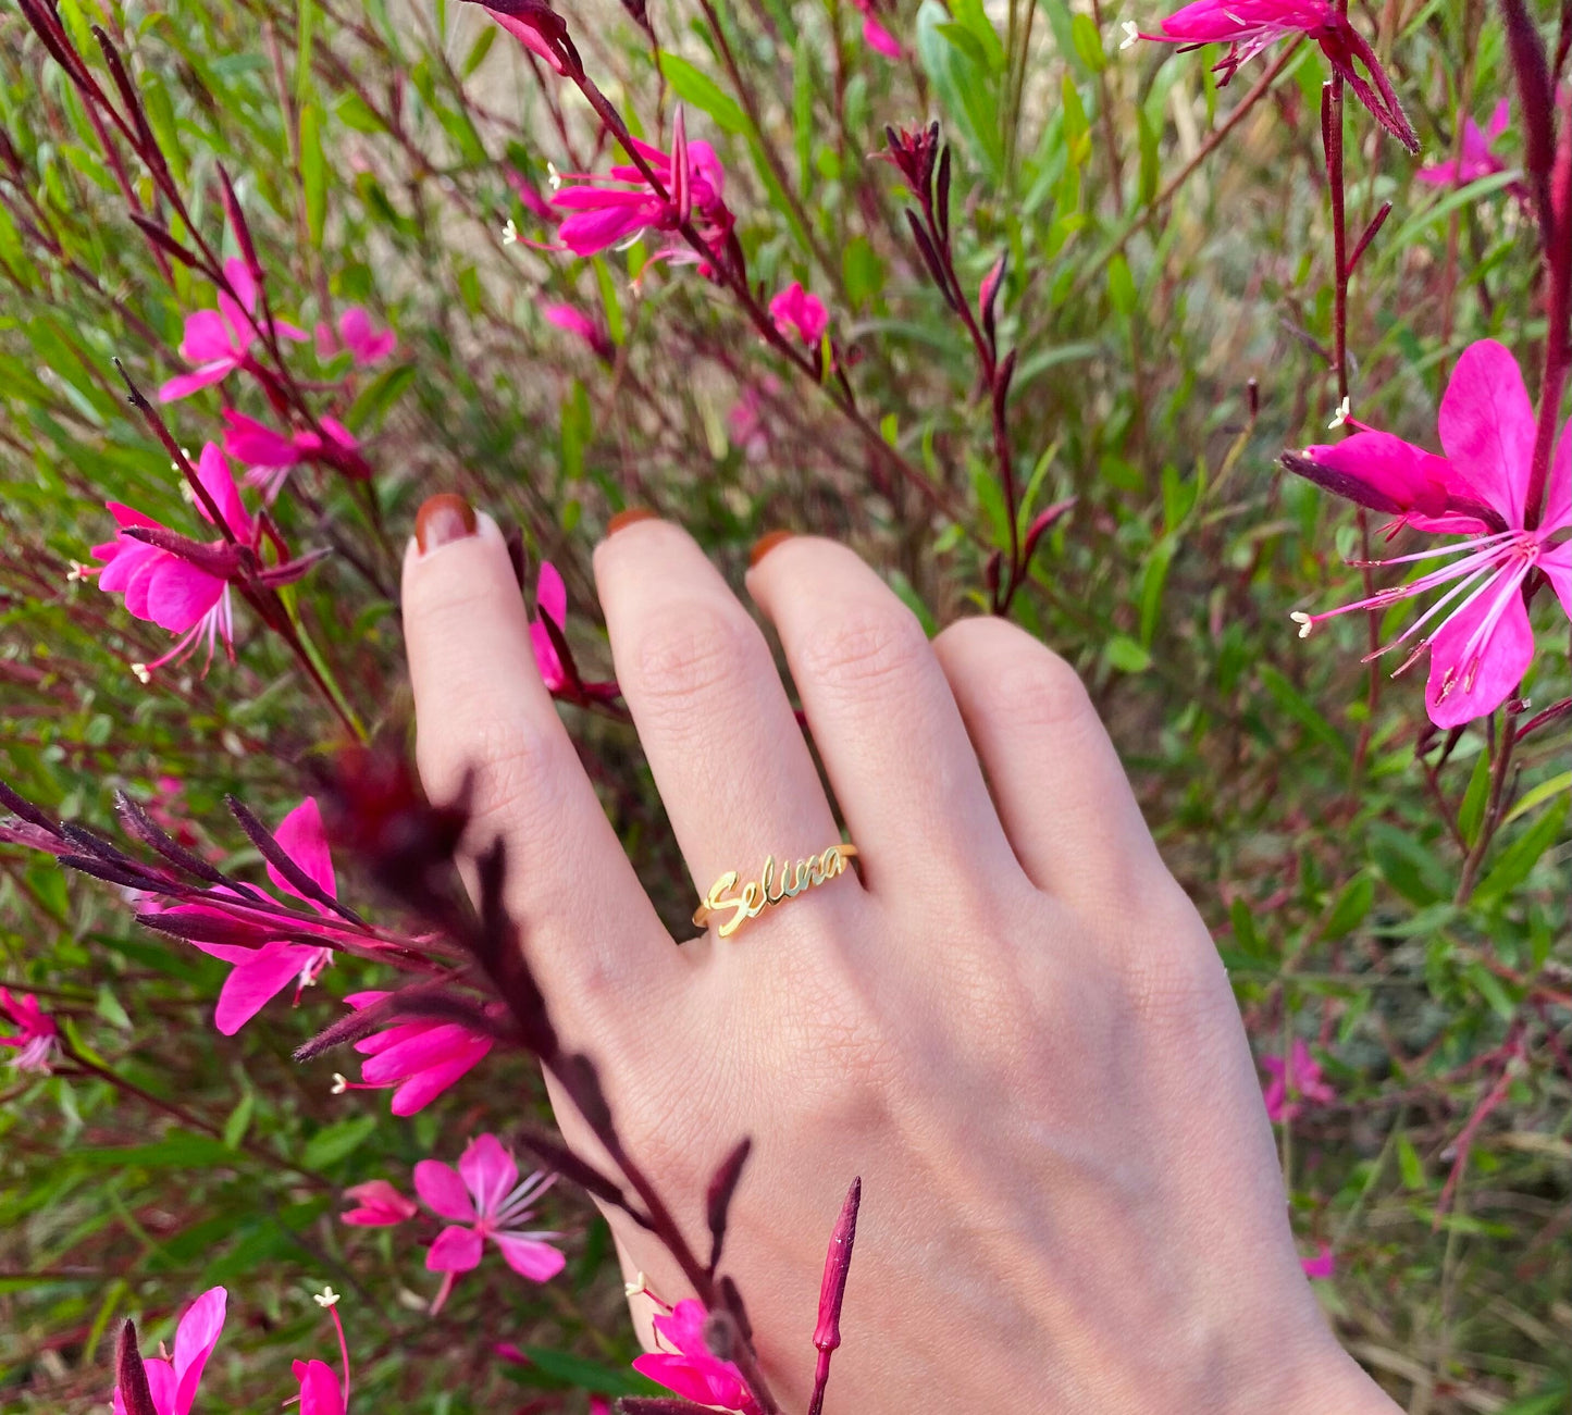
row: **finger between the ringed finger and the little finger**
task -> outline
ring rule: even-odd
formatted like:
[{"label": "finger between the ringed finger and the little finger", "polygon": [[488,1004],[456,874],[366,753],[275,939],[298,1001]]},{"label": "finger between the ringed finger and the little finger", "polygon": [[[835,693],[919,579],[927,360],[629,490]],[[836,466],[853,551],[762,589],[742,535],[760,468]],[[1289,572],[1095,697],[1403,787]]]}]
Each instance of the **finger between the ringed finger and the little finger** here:
[{"label": "finger between the ringed finger and the little finger", "polygon": [[949,684],[883,580],[844,546],[797,536],[755,564],[748,593],[780,634],[869,888],[1009,868]]}]

